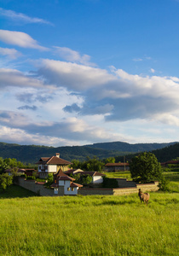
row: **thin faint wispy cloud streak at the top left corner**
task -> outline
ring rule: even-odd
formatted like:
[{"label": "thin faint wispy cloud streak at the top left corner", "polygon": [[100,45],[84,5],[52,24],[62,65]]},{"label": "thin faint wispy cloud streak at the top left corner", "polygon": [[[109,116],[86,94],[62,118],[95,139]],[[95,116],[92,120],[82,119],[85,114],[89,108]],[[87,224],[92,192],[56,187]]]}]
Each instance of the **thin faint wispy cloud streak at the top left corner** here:
[{"label": "thin faint wispy cloud streak at the top left corner", "polygon": [[41,23],[41,24],[53,25],[48,20],[29,17],[29,16],[21,14],[21,13],[16,13],[13,10],[10,10],[10,9],[0,8],[0,15],[4,16],[4,17],[6,17],[10,20],[20,21],[20,22],[24,22],[24,23]]}]

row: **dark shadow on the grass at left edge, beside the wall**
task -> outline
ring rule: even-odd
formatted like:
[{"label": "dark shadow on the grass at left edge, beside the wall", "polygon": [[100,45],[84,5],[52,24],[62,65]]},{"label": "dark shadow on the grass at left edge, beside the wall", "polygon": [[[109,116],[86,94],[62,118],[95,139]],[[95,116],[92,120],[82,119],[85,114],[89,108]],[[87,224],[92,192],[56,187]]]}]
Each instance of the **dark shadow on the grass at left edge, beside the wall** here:
[{"label": "dark shadow on the grass at left edge, beside the wall", "polygon": [[15,197],[30,197],[30,196],[37,196],[32,191],[29,191],[27,189],[21,188],[17,185],[11,185],[8,189],[3,191],[3,189],[0,189],[0,199],[6,199],[6,198],[15,198]]}]

